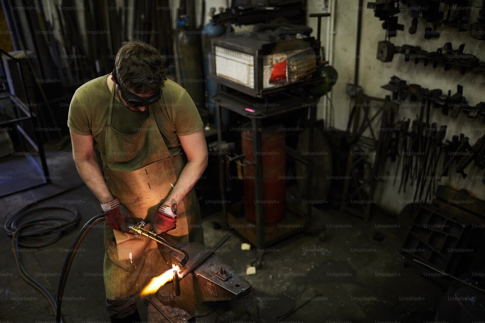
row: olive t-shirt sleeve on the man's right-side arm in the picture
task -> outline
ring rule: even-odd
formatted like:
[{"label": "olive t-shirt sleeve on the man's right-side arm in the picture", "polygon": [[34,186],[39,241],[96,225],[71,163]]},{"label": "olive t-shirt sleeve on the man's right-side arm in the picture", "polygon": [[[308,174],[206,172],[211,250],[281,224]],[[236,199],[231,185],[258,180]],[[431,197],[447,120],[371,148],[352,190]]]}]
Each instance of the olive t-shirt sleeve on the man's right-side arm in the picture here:
[{"label": "olive t-shirt sleeve on the man's right-side arm in the picture", "polygon": [[178,100],[176,127],[178,136],[187,136],[204,128],[199,111],[187,91]]}]

